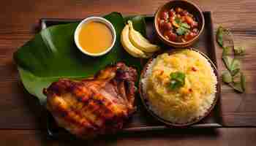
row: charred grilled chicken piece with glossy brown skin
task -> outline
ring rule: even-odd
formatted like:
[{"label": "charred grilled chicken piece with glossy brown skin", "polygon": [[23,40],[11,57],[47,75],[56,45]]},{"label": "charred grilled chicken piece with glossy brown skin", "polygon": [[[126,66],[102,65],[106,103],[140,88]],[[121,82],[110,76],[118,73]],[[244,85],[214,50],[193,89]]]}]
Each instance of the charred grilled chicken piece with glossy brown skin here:
[{"label": "charred grilled chicken piece with glossy brown skin", "polygon": [[115,133],[135,111],[136,70],[107,66],[94,78],[60,79],[43,90],[47,109],[59,126],[81,138]]}]

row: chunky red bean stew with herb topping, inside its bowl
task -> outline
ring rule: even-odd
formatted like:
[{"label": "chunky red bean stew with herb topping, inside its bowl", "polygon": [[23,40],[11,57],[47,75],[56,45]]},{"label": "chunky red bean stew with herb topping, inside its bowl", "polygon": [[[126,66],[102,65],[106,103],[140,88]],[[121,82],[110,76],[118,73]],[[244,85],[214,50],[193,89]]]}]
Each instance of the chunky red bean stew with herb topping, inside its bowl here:
[{"label": "chunky red bean stew with herb topping, inside its bowl", "polygon": [[195,17],[181,7],[163,10],[157,23],[162,36],[172,42],[188,42],[199,33]]}]

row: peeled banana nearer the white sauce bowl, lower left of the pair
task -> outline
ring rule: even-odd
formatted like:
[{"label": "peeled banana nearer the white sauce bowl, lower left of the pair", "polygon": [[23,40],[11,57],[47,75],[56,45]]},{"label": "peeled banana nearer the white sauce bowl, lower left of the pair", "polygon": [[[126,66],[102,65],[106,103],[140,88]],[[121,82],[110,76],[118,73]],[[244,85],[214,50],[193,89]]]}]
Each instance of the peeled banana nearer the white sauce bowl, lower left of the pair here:
[{"label": "peeled banana nearer the white sauce bowl, lower left of the pair", "polygon": [[124,50],[135,58],[149,58],[151,55],[144,53],[142,50],[138,49],[129,40],[129,26],[124,26],[123,31],[121,31],[121,45],[123,45]]}]

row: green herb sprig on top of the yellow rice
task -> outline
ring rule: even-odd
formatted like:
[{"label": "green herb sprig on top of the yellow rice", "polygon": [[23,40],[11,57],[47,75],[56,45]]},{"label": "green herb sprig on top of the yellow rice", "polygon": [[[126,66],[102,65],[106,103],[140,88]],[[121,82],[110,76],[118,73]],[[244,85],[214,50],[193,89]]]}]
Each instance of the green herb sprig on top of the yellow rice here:
[{"label": "green herb sprig on top of the yellow rice", "polygon": [[170,74],[170,89],[176,90],[185,85],[185,74],[183,72],[173,72]]}]

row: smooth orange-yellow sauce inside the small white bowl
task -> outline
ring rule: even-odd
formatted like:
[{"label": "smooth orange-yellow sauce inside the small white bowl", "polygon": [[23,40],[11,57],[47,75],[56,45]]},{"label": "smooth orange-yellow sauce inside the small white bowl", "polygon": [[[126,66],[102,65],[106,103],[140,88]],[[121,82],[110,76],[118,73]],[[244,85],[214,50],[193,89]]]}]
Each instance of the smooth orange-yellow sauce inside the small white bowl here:
[{"label": "smooth orange-yellow sauce inside the small white bowl", "polygon": [[81,27],[78,40],[83,50],[97,54],[110,47],[113,37],[108,26],[104,23],[92,21]]}]

